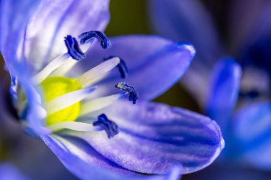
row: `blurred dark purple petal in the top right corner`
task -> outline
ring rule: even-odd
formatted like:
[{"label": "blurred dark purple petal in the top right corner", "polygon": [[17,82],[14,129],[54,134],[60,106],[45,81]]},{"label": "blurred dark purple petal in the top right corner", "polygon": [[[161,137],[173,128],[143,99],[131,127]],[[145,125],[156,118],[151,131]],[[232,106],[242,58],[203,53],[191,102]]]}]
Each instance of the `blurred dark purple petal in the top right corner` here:
[{"label": "blurred dark purple petal in the top right corner", "polygon": [[270,1],[231,1],[229,15],[228,37],[231,38],[230,48],[232,52],[242,55],[251,43],[259,40],[262,36],[270,36]]}]

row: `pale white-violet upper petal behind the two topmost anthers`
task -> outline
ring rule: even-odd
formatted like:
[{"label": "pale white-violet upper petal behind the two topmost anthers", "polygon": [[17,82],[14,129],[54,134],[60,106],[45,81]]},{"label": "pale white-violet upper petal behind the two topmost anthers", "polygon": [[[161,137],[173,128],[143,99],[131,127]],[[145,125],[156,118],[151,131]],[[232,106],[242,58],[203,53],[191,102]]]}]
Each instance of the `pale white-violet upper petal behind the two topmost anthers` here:
[{"label": "pale white-violet upper petal behind the two topmost anthers", "polygon": [[65,36],[103,31],[109,21],[108,4],[109,0],[43,1],[27,27],[26,57],[39,69],[44,63],[66,53]]}]

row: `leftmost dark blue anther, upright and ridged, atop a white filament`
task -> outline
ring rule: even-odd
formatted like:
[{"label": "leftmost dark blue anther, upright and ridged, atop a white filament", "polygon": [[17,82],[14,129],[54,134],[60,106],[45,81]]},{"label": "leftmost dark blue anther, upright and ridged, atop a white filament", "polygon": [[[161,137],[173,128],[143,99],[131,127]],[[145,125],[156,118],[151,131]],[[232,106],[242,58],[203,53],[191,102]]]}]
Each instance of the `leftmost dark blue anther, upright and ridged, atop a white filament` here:
[{"label": "leftmost dark blue anther, upright and ridged, atop a white filament", "polygon": [[86,58],[86,53],[81,51],[76,38],[73,38],[73,36],[68,35],[65,37],[65,44],[68,49],[68,54],[71,55],[71,58],[75,60],[82,60],[83,58]]}]

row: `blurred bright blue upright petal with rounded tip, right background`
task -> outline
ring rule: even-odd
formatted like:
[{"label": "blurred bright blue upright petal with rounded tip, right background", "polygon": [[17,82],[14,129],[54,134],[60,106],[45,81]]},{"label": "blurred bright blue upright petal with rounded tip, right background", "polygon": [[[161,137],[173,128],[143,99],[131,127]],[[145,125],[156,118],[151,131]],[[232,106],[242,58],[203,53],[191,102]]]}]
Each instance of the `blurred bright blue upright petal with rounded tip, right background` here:
[{"label": "blurred bright blue upright petal with rounded tip, right background", "polygon": [[[223,58],[213,69],[205,111],[226,133],[240,88],[241,67],[231,58]],[[224,134],[225,135],[225,134]]]}]

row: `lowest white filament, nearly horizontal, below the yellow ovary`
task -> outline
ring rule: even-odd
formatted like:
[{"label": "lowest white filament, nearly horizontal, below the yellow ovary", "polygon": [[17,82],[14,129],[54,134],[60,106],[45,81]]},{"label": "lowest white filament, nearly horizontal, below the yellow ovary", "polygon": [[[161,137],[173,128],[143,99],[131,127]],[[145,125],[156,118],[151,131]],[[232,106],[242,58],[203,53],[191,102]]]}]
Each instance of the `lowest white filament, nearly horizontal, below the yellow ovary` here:
[{"label": "lowest white filament, nearly horizontal, below the yellow ovary", "polygon": [[59,122],[54,125],[48,126],[48,129],[51,129],[51,131],[56,132],[58,130],[62,129],[71,129],[74,131],[83,131],[83,132],[93,132],[93,131],[101,131],[103,130],[102,127],[94,127],[91,124],[84,123],[84,122]]}]

